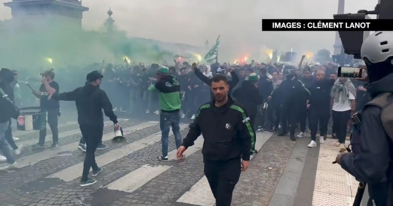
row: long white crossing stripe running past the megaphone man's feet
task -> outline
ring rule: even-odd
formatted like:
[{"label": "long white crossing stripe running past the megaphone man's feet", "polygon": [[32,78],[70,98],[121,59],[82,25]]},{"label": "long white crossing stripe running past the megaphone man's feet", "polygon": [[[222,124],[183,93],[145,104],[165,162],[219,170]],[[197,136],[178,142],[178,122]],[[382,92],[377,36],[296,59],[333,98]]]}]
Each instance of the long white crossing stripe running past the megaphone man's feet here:
[{"label": "long white crossing stripe running past the megaphone man's feet", "polygon": [[[180,130],[183,130],[187,128],[188,125],[180,125]],[[169,135],[172,135],[173,132],[170,131]],[[138,150],[141,150],[145,147],[148,147],[150,145],[153,145],[154,143],[158,142],[161,140],[161,132],[156,132],[155,134],[152,134],[151,136],[145,137],[143,139],[140,139],[138,141],[134,141],[133,143],[130,143],[128,145],[122,146],[120,148],[117,148],[115,150],[111,150],[105,154],[99,155],[95,157],[95,161],[99,166],[105,166],[106,164],[109,164],[113,161],[116,161],[128,154],[131,154],[132,152],[136,152]],[[80,177],[83,169],[83,162],[75,164],[73,166],[70,166],[64,170],[61,170],[59,172],[53,173],[48,176],[48,178],[59,178],[62,179],[66,182],[72,181],[78,177]],[[91,170],[91,169],[90,169]]]}]

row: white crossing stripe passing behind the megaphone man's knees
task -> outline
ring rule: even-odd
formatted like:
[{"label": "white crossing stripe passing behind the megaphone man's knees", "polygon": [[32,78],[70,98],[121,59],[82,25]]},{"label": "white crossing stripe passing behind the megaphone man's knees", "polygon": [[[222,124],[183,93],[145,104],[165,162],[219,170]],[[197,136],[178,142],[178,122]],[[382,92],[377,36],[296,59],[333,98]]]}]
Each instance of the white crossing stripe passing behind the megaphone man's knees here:
[{"label": "white crossing stripe passing behind the megaphone man's knees", "polygon": [[[136,131],[136,130],[141,130],[143,128],[147,128],[149,126],[154,126],[157,125],[157,123],[155,122],[146,122],[146,123],[142,123],[139,125],[135,125],[135,126],[130,126],[127,128],[123,129],[123,134],[127,135],[127,134],[131,134],[132,132]],[[80,132],[80,131],[79,131]],[[107,134],[104,134],[102,137],[102,141],[106,141],[106,140],[110,140],[114,137],[114,132],[109,132]],[[46,149],[42,152],[37,152],[35,154],[32,155],[28,155],[26,157],[21,157],[19,159],[17,159],[17,163],[18,163],[18,168],[24,167],[24,166],[29,166],[29,165],[33,165],[39,161],[45,160],[45,159],[49,159],[61,152],[65,152],[68,150],[75,150],[77,148],[77,146],[79,145],[79,141],[74,142],[74,143],[70,143],[68,145],[64,145],[64,146],[59,146],[59,148],[55,149],[55,150],[50,150],[50,149]]]}]

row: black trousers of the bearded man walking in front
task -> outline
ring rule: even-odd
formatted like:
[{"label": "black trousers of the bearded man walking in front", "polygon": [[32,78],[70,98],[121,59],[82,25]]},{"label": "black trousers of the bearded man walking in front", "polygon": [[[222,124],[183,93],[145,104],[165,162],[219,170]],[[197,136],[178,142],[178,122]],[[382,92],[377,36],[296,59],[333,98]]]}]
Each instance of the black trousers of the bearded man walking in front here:
[{"label": "black trousers of the bearded man walking in front", "polygon": [[216,199],[216,206],[231,206],[233,189],[241,173],[240,157],[227,161],[204,159],[204,164],[204,172]]}]

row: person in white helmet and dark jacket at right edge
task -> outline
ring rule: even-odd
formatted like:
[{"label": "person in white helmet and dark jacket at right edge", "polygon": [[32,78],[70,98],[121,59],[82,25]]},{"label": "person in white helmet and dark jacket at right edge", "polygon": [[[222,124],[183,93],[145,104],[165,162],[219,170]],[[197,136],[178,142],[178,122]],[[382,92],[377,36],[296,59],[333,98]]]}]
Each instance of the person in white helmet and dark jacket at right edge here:
[{"label": "person in white helmet and dark jacket at right edge", "polygon": [[351,153],[336,162],[368,186],[367,205],[392,205],[393,169],[393,32],[368,36],[360,51],[367,67],[366,86],[371,100],[352,117]]}]

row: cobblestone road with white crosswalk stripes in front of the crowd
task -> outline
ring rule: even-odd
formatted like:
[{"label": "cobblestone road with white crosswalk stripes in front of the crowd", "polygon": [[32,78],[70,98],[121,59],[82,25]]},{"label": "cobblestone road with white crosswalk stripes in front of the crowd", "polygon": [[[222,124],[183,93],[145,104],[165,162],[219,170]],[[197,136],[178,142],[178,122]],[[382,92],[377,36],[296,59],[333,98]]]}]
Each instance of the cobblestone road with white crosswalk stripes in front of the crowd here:
[{"label": "cobblestone road with white crosswalk stripes in front of the crowd", "polygon": [[[161,154],[161,132],[157,116],[149,120],[123,118],[125,142],[112,143],[113,126],[108,124],[104,128],[103,143],[109,148],[96,152],[96,161],[103,168],[96,184],[79,186],[84,154],[76,146],[81,134],[63,135],[58,150],[31,150],[28,147],[17,157],[20,168],[0,171],[0,206],[215,205],[204,181],[202,137],[186,151],[187,158],[178,161],[174,158],[176,148],[173,134],[170,134],[170,160],[160,162],[157,157]],[[59,133],[67,134],[77,126],[62,126]],[[182,137],[187,132],[188,126],[183,123]],[[37,138],[37,132],[21,137]],[[288,136],[277,137],[265,132],[258,133],[259,138],[264,142],[249,170],[242,173],[232,205],[267,206],[296,144]],[[48,141],[51,143],[51,139]],[[193,194],[196,203],[184,203],[187,194]]]}]

